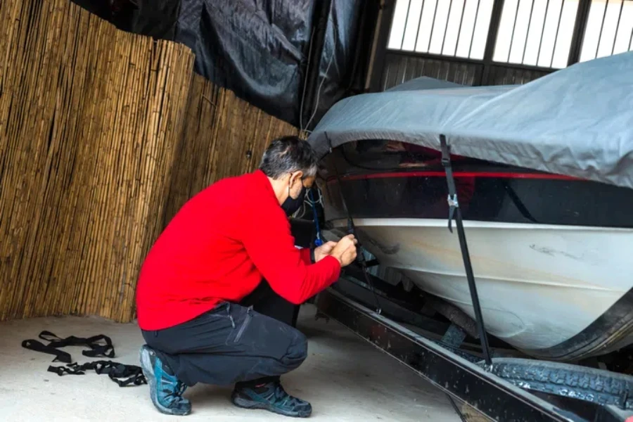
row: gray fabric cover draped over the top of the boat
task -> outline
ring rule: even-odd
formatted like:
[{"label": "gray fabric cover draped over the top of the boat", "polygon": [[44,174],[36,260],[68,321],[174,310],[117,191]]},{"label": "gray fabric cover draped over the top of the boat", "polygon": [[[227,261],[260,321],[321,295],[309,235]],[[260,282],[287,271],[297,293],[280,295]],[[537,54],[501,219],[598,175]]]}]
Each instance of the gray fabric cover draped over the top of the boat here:
[{"label": "gray fabric cover draped over the top of the boat", "polygon": [[525,85],[385,91],[345,98],[308,141],[392,139],[633,188],[633,52],[572,65]]}]

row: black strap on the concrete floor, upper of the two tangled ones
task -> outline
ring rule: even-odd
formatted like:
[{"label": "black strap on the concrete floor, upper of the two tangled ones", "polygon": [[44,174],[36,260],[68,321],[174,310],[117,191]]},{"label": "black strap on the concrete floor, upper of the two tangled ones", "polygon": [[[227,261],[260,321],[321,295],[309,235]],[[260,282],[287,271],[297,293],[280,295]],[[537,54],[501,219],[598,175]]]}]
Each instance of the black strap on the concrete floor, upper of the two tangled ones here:
[{"label": "black strap on the concrete floor, upper of the two tangled ones", "polygon": [[88,338],[75,337],[75,335],[71,335],[67,338],[59,338],[57,335],[51,333],[50,331],[42,331],[41,333],[39,333],[39,338],[41,338],[41,340],[48,341],[49,344],[44,345],[44,343],[41,343],[38,340],[30,339],[24,340],[22,342],[22,347],[25,347],[29,350],[34,350],[35,352],[54,354],[56,357],[55,359],[53,359],[53,362],[59,361],[64,362],[65,364],[72,363],[70,353],[58,350],[60,347],[66,346],[90,347],[90,350],[82,351],[82,354],[87,357],[113,358],[115,355],[112,340],[107,335],[103,334],[93,335],[92,337]]}]

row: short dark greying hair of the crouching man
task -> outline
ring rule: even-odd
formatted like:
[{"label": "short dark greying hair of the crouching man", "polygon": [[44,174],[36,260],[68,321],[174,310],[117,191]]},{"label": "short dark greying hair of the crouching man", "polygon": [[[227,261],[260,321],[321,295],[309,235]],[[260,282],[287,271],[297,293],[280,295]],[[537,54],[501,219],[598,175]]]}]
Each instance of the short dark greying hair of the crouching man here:
[{"label": "short dark greying hair of the crouching man", "polygon": [[272,141],[264,152],[260,170],[271,179],[298,171],[302,171],[304,177],[313,177],[317,162],[319,159],[309,143],[298,136],[282,136]]}]

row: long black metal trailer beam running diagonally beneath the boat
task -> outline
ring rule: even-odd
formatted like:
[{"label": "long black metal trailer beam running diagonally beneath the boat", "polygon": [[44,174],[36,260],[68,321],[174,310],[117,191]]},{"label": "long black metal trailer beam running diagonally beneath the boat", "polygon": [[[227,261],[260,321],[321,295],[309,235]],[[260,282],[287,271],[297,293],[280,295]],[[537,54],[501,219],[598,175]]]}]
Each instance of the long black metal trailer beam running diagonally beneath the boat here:
[{"label": "long black metal trailer beam running diagonally beneath the boat", "polygon": [[[319,293],[315,305],[319,312],[409,366],[456,402],[492,421],[633,422],[633,411],[614,405],[523,390],[488,372],[485,365],[442,347],[334,288]],[[459,406],[456,410],[461,414]]]}]

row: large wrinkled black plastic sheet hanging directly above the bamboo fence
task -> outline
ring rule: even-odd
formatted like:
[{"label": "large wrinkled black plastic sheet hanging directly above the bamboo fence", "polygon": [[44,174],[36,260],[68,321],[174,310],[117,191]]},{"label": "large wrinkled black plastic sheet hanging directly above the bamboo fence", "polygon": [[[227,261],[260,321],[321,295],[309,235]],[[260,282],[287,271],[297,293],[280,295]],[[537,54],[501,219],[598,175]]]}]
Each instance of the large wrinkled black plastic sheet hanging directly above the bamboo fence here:
[{"label": "large wrinkled black plastic sheet hanging directly above the bamboo fence", "polygon": [[312,0],[183,0],[177,41],[196,72],[296,124]]}]

